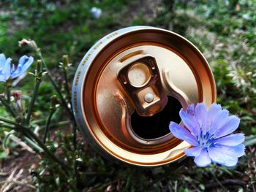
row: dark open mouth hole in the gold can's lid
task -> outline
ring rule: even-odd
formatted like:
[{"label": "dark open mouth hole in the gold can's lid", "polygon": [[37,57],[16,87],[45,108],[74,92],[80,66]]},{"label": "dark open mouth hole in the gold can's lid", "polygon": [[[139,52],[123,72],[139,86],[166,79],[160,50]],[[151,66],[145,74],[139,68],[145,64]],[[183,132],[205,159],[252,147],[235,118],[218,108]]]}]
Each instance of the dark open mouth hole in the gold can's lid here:
[{"label": "dark open mouth hole in the gold can's lid", "polygon": [[168,96],[168,102],[161,112],[152,117],[142,117],[135,111],[131,115],[132,130],[143,139],[157,139],[170,133],[170,121],[181,122],[178,112],[182,106],[178,99]]}]

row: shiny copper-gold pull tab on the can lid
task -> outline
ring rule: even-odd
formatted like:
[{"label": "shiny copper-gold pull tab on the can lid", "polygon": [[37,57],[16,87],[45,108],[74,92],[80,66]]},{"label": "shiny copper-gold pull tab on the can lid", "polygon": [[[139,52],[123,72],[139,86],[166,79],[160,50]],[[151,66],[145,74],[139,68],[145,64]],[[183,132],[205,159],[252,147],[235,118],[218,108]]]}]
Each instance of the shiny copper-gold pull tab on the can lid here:
[{"label": "shiny copper-gold pull tab on the can lid", "polygon": [[134,59],[129,58],[129,63],[118,71],[117,77],[140,116],[152,116],[162,111],[167,104],[167,95],[162,88],[157,61],[153,56],[137,55]]}]

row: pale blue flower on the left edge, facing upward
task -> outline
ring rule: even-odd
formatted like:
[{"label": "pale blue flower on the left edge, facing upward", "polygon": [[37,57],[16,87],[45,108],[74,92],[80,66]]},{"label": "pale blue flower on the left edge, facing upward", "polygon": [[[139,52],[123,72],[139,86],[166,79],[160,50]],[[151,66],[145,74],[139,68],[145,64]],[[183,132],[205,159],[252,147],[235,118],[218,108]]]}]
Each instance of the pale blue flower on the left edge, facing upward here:
[{"label": "pale blue flower on the left edge, facing upward", "polygon": [[34,62],[34,58],[23,55],[16,69],[15,66],[11,64],[11,61],[11,58],[6,58],[3,53],[0,54],[0,81],[6,82],[26,72],[29,66]]}]

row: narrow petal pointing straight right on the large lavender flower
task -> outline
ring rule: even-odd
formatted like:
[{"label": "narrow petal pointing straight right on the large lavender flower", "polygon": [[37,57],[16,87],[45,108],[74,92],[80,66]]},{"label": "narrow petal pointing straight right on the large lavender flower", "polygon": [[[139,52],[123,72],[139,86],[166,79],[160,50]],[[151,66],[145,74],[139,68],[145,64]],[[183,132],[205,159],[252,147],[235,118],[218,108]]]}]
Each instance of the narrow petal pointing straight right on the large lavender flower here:
[{"label": "narrow petal pointing straight right on the large lavender flower", "polygon": [[214,140],[218,145],[236,146],[244,142],[244,134],[231,134]]}]

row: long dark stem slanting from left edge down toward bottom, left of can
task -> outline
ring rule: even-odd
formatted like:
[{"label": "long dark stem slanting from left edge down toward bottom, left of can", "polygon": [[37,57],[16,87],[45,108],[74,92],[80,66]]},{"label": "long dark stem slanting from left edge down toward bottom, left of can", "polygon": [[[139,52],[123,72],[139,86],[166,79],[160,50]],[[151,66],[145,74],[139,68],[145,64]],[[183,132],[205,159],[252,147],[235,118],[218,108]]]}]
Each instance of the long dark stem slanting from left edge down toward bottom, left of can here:
[{"label": "long dark stem slanting from left edge down toward bottom, left of can", "polygon": [[[36,134],[34,134],[33,131],[31,131],[30,128],[26,128],[24,126],[21,126],[20,124],[16,123],[15,121],[9,120],[7,118],[3,118],[0,117],[1,121],[4,121],[5,123],[10,123],[14,126],[16,126],[17,128],[20,128],[20,131],[24,131],[26,132],[26,134],[29,135],[29,137],[31,137],[32,139],[34,139],[35,142],[37,142],[37,144],[39,145],[39,147],[42,148],[42,150],[44,150],[44,152],[53,160],[56,161],[56,163],[58,163],[64,170],[67,170],[67,168],[69,168],[66,164],[64,164],[63,161],[61,161],[59,158],[56,157],[56,155],[54,155],[52,152],[50,152],[50,150],[48,150],[48,147],[46,147],[44,145],[44,143],[37,137]],[[17,129],[18,130],[18,129]]]}]

